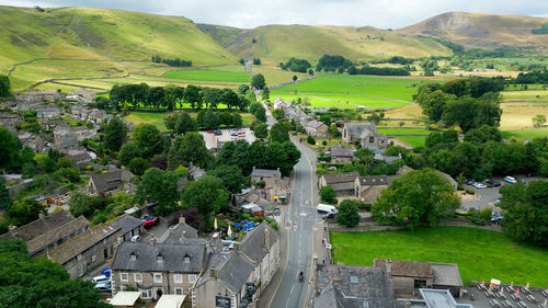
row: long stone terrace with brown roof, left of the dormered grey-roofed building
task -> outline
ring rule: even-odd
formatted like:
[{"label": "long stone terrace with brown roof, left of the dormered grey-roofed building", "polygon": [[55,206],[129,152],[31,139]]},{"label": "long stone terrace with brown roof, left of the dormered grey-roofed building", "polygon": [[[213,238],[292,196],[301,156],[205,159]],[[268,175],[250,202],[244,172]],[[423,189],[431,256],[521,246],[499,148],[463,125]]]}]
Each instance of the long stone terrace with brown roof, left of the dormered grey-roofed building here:
[{"label": "long stone terrace with brown roof, left of the dormered grey-roofed building", "polygon": [[70,278],[76,280],[113,258],[121,229],[122,227],[99,224],[49,250],[46,255],[53,262],[61,264]]}]

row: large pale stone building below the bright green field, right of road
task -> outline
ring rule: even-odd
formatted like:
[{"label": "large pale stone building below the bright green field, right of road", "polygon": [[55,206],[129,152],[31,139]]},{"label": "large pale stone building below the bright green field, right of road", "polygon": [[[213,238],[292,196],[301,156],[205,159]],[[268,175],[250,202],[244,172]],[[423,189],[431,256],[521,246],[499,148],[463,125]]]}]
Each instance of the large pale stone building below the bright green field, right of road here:
[{"label": "large pale stone building below the bright green field, right of road", "polygon": [[377,135],[374,123],[345,123],[342,132],[342,139],[346,144],[359,141],[363,148],[380,148],[388,146],[386,135]]}]

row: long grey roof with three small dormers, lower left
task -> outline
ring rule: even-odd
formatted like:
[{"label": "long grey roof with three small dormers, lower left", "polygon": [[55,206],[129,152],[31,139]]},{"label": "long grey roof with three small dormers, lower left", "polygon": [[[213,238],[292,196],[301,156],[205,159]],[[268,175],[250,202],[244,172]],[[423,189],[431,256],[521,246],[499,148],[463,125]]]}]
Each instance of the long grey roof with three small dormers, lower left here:
[{"label": "long grey roof with three small dormers, lower left", "polygon": [[[135,260],[132,260],[135,255]],[[161,255],[162,261],[158,260]],[[185,256],[190,262],[185,263]],[[125,241],[116,251],[113,271],[199,273],[206,264],[204,244],[144,243]]]}]

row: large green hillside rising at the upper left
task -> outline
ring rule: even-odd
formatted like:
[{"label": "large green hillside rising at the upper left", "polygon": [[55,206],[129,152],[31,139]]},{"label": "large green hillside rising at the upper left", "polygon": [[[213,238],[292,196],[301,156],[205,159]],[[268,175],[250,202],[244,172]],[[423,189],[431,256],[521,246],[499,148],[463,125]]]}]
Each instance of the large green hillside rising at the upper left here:
[{"label": "large green hillside rising at the upper left", "polygon": [[[62,77],[122,76],[142,71],[152,55],[179,57],[194,65],[235,64],[236,58],[185,18],[137,12],[61,8],[0,7],[0,72],[16,62],[13,88]],[[56,60],[52,60],[52,59]],[[59,60],[71,60],[59,66]],[[25,67],[27,66],[27,67]],[[39,67],[36,71],[34,67]]]}]

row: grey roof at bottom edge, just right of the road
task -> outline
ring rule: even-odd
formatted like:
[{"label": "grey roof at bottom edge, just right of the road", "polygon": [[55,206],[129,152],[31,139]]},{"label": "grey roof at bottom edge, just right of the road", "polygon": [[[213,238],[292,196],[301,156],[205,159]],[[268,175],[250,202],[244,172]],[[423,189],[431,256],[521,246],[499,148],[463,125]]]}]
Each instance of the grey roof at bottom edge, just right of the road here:
[{"label": "grey roof at bottom edge, just right of the road", "polygon": [[317,271],[315,307],[396,307],[392,284],[384,269],[318,264]]}]

